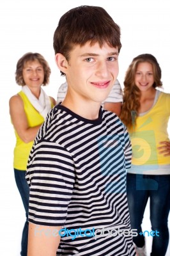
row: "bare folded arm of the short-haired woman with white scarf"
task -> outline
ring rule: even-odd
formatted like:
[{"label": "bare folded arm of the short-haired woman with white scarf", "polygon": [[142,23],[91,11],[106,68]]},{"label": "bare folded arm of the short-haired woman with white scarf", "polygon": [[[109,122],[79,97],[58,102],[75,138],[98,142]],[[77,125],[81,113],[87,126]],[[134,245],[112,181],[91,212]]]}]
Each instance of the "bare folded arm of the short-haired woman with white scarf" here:
[{"label": "bare folded arm of the short-haired woman with white scarf", "polygon": [[24,103],[19,95],[14,95],[10,99],[10,116],[12,118],[13,126],[21,140],[25,143],[35,140],[35,136],[41,125],[35,127],[28,126],[26,113],[24,111]]}]

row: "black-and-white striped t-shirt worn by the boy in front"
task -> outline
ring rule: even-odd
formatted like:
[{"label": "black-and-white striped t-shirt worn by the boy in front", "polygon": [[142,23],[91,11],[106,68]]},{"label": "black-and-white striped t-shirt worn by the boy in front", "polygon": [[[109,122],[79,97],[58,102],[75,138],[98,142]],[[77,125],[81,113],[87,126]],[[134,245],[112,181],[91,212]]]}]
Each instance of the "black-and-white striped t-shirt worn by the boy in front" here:
[{"label": "black-and-white striped t-shirt worn by the boy in front", "polygon": [[114,113],[100,108],[97,120],[87,120],[60,104],[50,111],[26,179],[29,221],[63,227],[57,255],[135,255],[126,193],[130,160],[127,130]]}]

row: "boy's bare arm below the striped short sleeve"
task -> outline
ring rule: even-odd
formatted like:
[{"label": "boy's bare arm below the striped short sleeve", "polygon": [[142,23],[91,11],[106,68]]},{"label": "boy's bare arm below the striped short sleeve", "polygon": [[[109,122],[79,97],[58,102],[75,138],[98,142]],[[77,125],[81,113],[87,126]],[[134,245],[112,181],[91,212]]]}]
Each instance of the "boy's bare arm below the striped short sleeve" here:
[{"label": "boy's bare arm below the striped short sleeve", "polygon": [[35,225],[29,222],[28,256],[56,256],[61,227]]}]

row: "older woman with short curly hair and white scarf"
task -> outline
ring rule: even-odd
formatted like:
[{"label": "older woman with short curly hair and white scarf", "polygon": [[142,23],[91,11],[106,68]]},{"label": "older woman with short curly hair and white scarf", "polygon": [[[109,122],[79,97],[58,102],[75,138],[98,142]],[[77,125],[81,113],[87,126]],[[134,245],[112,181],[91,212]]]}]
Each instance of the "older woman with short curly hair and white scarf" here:
[{"label": "older woman with short curly hair and white scarf", "polygon": [[[22,90],[10,99],[10,116],[17,139],[13,160],[15,181],[26,210],[26,218],[29,186],[25,176],[29,152],[47,113],[56,103],[42,89],[42,85],[49,83],[49,77],[49,64],[39,53],[28,52],[17,62],[15,80],[22,86]],[[27,255],[27,234],[28,222],[26,220],[22,232],[22,256]]]}]

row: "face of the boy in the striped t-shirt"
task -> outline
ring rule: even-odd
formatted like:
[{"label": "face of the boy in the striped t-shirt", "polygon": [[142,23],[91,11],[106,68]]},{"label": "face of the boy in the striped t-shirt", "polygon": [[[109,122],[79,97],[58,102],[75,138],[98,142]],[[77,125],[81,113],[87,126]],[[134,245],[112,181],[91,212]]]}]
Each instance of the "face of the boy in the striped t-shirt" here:
[{"label": "face of the boy in the striped t-shirt", "polygon": [[89,42],[76,45],[70,52],[65,70],[68,90],[76,99],[102,102],[118,76],[118,49]]}]

